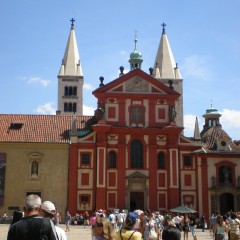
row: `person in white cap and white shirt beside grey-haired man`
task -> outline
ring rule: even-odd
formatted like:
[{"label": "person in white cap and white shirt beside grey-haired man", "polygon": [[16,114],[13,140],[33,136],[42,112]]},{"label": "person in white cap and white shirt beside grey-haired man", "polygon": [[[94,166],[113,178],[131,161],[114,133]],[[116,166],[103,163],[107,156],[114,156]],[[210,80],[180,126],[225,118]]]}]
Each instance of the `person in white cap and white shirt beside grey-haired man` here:
[{"label": "person in white cap and white shirt beside grey-haired man", "polygon": [[[56,208],[55,208],[54,204],[50,201],[43,202],[41,205],[40,214],[44,218],[50,218],[53,220],[54,216],[56,214]],[[55,226],[55,229],[57,232],[58,240],[67,240],[67,236],[63,229],[61,229],[58,226]]]}]

